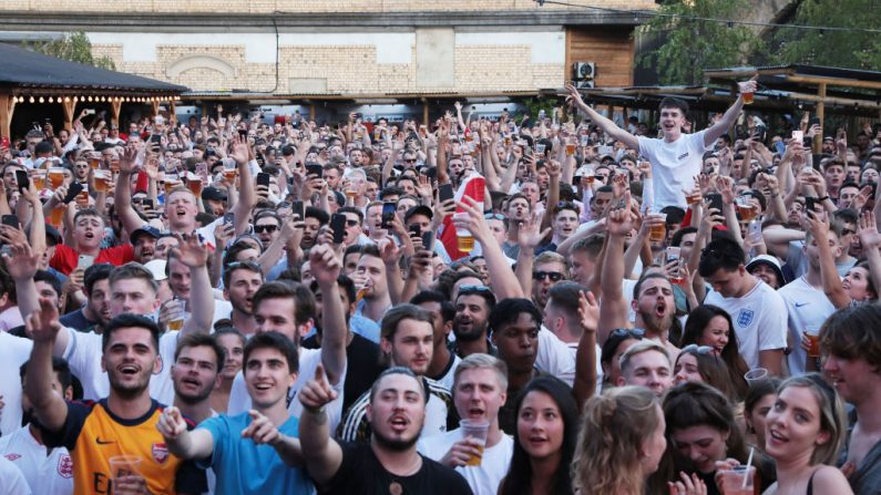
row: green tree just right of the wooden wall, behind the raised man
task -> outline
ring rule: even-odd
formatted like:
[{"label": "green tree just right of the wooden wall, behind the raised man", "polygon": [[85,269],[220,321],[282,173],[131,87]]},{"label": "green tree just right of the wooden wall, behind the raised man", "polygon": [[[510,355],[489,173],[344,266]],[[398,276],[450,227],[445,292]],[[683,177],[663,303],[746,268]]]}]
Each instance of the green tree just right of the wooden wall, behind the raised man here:
[{"label": "green tree just right of the wooden wall, behind the raised man", "polygon": [[[705,69],[745,63],[759,47],[756,33],[744,25],[692,20],[688,17],[737,19],[746,0],[674,0],[658,9],[638,34],[659,42],[639,55],[637,63],[655,69],[662,84],[703,84]],[[683,16],[683,17],[669,17]]]}]

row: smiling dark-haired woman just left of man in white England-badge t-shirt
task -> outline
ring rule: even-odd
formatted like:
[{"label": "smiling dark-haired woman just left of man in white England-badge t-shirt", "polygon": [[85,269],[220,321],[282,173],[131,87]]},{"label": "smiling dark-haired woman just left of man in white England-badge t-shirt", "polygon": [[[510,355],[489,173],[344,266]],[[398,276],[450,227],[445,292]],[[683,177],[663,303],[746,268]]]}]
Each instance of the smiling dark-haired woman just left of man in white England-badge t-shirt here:
[{"label": "smiling dark-haired woman just left of man in white England-badge t-shirt", "polygon": [[728,311],[713,305],[701,305],[688,313],[683,332],[683,347],[688,344],[707,346],[725,361],[735,395],[742,400],[749,386],[744,375],[749,371],[737,343],[731,316]]}]

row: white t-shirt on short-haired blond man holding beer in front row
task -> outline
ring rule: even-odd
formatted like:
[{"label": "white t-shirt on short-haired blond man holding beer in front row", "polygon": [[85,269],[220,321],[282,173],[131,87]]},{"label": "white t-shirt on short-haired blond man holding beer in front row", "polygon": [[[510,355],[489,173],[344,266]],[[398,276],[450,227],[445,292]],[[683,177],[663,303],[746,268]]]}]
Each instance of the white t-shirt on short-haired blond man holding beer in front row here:
[{"label": "white t-shirt on short-haired blond man holding beer in front row", "polygon": [[[462,437],[462,430],[457,429],[424,439],[420,437],[416,448],[426,457],[440,461],[447,455],[450,447]],[[502,433],[499,443],[483,451],[479,466],[459,466],[455,471],[465,478],[474,495],[495,495],[499,492],[499,484],[508,474],[513,454],[514,440]]]}]

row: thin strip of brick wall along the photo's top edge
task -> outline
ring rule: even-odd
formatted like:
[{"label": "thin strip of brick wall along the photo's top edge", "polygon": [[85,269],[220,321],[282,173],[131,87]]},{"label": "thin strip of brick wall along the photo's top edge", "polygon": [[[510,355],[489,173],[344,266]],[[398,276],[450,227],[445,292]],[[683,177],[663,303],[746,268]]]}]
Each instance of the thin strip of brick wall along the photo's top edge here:
[{"label": "thin strip of brick wall along the photo's top edge", "polygon": [[[654,0],[568,0],[575,6],[597,6],[613,9],[654,9]],[[0,12],[31,10],[40,12],[120,12],[119,0],[3,0]],[[539,8],[533,0],[139,0],[124,3],[131,13],[272,13],[272,12],[418,12],[469,10],[573,10],[580,7],[545,4]]]}]

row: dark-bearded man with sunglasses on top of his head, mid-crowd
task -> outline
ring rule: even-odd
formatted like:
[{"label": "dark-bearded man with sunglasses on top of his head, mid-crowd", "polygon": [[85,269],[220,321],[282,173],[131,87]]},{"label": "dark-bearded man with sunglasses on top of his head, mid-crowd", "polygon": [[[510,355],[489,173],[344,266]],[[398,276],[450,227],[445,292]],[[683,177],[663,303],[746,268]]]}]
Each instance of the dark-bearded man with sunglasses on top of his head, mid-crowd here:
[{"label": "dark-bearded man with sunglasses on top of his head, mid-crowd", "polygon": [[470,354],[493,354],[495,350],[486,334],[486,320],[495,307],[495,295],[486,286],[464,286],[455,297],[452,351],[460,358]]}]

